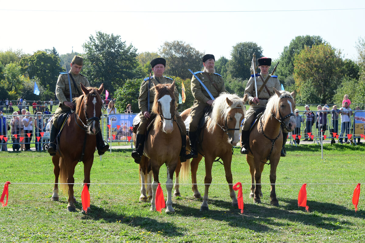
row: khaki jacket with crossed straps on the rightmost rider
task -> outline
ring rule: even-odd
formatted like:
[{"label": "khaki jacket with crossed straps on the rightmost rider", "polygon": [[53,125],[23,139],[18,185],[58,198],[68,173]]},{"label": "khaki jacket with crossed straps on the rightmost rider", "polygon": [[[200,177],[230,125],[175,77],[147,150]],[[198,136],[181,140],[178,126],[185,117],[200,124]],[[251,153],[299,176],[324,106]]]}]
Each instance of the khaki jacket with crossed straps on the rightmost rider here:
[{"label": "khaki jacket with crossed straps on the rightmost rider", "polygon": [[[265,79],[268,77],[269,74],[256,74],[256,84],[257,84],[257,92],[261,89],[261,86],[264,84],[264,82],[262,81],[262,79]],[[261,77],[262,79],[261,79]],[[277,90],[281,90],[281,85],[279,82],[279,79],[277,78],[277,76],[271,76],[268,80],[268,82],[266,82],[266,87],[268,87],[268,90],[270,91],[270,93],[268,93],[268,91],[266,90],[266,88],[264,87],[261,90],[261,93],[258,94],[258,99],[260,99],[260,105],[265,105],[267,103],[267,99],[269,99],[271,97],[271,95],[273,95],[275,93],[274,88]],[[245,95],[247,94],[247,99],[249,101],[252,101],[252,99],[254,97],[256,97],[256,91],[255,91],[255,79],[253,77],[253,74],[251,75],[251,78],[249,79],[249,82],[247,82],[246,85],[246,89],[245,89]],[[264,100],[261,100],[264,99]],[[255,105],[254,103],[251,104]]]}]

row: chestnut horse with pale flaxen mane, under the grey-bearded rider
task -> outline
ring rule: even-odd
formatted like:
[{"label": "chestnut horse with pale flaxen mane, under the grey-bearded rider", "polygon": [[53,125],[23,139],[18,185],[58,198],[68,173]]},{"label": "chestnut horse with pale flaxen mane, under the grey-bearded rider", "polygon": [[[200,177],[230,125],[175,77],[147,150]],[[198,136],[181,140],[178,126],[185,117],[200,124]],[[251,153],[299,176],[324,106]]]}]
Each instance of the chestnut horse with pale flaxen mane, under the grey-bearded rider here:
[{"label": "chestnut horse with pale flaxen mane, under the grey-bearded rider", "polygon": [[[243,118],[245,117],[246,107],[243,99],[235,94],[223,93],[217,97],[212,106],[212,113],[209,115],[208,120],[204,126],[204,129],[200,133],[203,140],[197,149],[199,155],[197,158],[193,158],[191,161],[191,179],[192,179],[192,191],[195,198],[201,198],[196,185],[196,172],[200,160],[204,156],[205,161],[205,191],[203,196],[203,203],[201,204],[200,211],[208,210],[208,190],[212,183],[212,165],[217,157],[220,157],[223,161],[224,172],[226,173],[226,180],[228,183],[230,197],[232,199],[232,205],[238,206],[235,191],[233,190],[233,179],[231,172],[232,162],[232,146],[239,142],[239,127]],[[184,110],[181,113],[181,117],[188,123],[190,117],[190,109]],[[189,144],[189,143],[188,143]],[[181,173],[188,175],[189,162],[181,164]],[[180,166],[176,169],[176,183],[174,195],[180,195],[178,175],[180,173]]]}]

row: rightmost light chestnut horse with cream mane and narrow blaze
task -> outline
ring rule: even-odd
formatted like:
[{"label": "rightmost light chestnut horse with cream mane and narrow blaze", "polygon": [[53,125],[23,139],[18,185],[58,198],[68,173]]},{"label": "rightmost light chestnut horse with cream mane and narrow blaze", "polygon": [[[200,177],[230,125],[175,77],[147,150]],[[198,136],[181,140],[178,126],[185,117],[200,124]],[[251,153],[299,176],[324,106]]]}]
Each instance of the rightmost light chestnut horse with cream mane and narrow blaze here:
[{"label": "rightmost light chestnut horse with cream mane and narrow blaze", "polygon": [[264,165],[269,160],[270,165],[270,204],[279,206],[276,198],[275,182],[276,168],[280,160],[280,151],[283,145],[283,131],[280,125],[283,124],[288,132],[296,126],[295,93],[278,91],[274,88],[275,94],[270,97],[264,114],[251,129],[249,138],[249,154],[246,155],[247,163],[251,173],[251,192],[254,203],[260,203],[261,173]]}]

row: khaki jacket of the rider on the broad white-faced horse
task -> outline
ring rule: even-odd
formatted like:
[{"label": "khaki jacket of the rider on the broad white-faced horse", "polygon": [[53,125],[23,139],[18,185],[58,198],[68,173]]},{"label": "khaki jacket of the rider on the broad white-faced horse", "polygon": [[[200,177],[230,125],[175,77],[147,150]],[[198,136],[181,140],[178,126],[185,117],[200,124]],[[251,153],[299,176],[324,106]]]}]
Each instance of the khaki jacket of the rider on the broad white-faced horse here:
[{"label": "khaki jacket of the rider on the broad white-faced horse", "polygon": [[[155,77],[155,75],[151,76],[151,80],[150,78],[145,78],[142,81],[142,85],[141,85],[141,89],[139,90],[139,97],[138,97],[138,107],[139,109],[143,112],[148,110],[148,83],[150,82],[150,89],[154,86],[153,83],[155,83],[155,85],[158,85],[159,83],[165,84],[172,84],[173,79],[169,78],[169,77]],[[176,89],[176,85],[175,85],[175,90],[174,90],[174,95],[175,95],[175,100],[178,101],[179,100],[179,93]],[[150,110],[153,106],[153,100],[155,97],[155,92],[154,90],[150,90]],[[150,111],[148,110],[148,111]]]}]

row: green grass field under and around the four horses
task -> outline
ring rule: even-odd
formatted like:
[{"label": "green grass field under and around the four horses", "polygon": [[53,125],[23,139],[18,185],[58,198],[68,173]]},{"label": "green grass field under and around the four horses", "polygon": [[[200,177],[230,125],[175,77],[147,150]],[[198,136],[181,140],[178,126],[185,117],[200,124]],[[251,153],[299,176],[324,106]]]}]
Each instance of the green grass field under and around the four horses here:
[{"label": "green grass field under and around the four horses", "polygon": [[[130,152],[113,150],[102,161],[95,157],[89,190],[92,212],[87,215],[81,213],[82,163],[74,176],[77,212],[70,213],[65,193],[60,193],[59,202],[50,200],[54,175],[47,153],[1,152],[1,190],[5,181],[12,183],[8,206],[0,208],[1,242],[364,242],[364,193],[357,213],[351,201],[356,184],[365,183],[364,145],[325,144],[324,160],[320,146],[287,145],[288,156],[277,168],[280,207],[270,205],[268,165],[262,175],[262,203],[249,199],[248,165],[234,149],[233,181],[243,184],[243,214],[231,206],[219,162],[213,166],[210,211],[199,211],[201,200],[193,199],[187,181],[180,185],[181,197],[173,198],[175,213],[151,212],[150,202],[138,201],[138,165]],[[201,162],[197,181],[202,195],[204,175]],[[165,166],[160,182],[166,182]],[[310,212],[297,205],[303,183],[307,183]],[[165,185],[162,189],[166,199]]]}]

